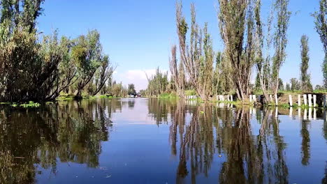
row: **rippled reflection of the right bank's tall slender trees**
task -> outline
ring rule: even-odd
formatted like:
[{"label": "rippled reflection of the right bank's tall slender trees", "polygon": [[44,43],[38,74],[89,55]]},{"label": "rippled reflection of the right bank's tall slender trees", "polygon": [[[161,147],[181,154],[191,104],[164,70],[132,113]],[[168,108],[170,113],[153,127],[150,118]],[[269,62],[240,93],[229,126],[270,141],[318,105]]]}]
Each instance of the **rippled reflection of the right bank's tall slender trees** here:
[{"label": "rippled reflection of the right bank's tall slender trees", "polygon": [[267,110],[257,115],[261,128],[255,134],[247,108],[185,107],[183,103],[177,103],[175,113],[171,113],[171,153],[179,154],[180,159],[176,183],[184,183],[187,177],[196,183],[196,175],[208,176],[212,160],[218,156],[226,158],[219,183],[288,183],[286,144],[279,135],[275,114],[269,116]]}]

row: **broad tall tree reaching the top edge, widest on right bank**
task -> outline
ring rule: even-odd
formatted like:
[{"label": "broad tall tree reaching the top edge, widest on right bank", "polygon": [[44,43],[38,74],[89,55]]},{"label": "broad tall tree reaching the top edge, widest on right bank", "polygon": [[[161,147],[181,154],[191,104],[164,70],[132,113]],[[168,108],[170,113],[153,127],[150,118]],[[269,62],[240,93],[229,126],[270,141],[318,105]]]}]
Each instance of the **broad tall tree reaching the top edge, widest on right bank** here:
[{"label": "broad tall tree reaching the top edge, widest on right bank", "polygon": [[244,101],[249,95],[249,79],[254,63],[252,7],[249,6],[248,0],[218,0],[218,2],[221,38],[224,40],[225,53],[233,68],[233,83],[238,99]]}]

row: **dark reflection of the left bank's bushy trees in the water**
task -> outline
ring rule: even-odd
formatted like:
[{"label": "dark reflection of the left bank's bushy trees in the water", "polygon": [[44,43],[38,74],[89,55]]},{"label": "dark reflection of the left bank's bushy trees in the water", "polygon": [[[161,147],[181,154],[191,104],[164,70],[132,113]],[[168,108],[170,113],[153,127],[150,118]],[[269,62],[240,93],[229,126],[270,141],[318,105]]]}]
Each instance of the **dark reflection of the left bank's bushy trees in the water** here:
[{"label": "dark reflection of the left bank's bushy trees in the water", "polygon": [[1,109],[0,183],[34,183],[39,166],[56,174],[57,159],[98,167],[101,141],[108,140],[116,107],[121,108],[97,100],[37,110]]}]

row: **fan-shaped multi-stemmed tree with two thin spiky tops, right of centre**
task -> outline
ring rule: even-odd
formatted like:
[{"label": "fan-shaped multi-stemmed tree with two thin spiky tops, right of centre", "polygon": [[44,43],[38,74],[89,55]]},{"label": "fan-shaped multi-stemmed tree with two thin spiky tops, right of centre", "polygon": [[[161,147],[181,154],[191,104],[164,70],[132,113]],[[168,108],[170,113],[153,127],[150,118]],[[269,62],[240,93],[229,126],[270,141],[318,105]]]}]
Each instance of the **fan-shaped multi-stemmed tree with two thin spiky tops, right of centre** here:
[{"label": "fan-shaped multi-stemmed tree with two thin spiky tops, right of centre", "polygon": [[[196,23],[196,11],[191,4],[191,33],[187,44],[187,22],[182,15],[182,3],[176,4],[177,35],[180,43],[180,57],[189,82],[202,99],[208,99],[212,89],[212,65],[214,52],[207,24],[202,30]],[[203,33],[204,32],[204,38]]]}]

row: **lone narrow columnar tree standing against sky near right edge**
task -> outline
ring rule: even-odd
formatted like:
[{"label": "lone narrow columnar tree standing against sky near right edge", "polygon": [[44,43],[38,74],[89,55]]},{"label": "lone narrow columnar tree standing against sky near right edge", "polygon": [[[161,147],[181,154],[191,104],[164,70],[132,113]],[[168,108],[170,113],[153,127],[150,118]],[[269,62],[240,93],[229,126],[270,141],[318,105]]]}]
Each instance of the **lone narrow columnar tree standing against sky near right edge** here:
[{"label": "lone narrow columnar tree standing against sky near right edge", "polygon": [[301,66],[300,66],[300,81],[303,91],[310,91],[312,89],[312,84],[310,82],[310,75],[307,73],[309,69],[309,45],[308,45],[309,38],[305,35],[301,37]]}]

